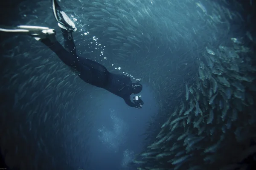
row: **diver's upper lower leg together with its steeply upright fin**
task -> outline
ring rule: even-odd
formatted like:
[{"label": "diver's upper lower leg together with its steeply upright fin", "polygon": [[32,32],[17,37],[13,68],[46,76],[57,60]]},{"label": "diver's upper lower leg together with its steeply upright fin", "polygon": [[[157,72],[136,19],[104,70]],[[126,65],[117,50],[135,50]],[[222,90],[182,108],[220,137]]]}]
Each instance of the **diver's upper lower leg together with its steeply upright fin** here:
[{"label": "diver's upper lower leg together with its steeply upright fin", "polygon": [[64,47],[67,48],[71,54],[76,56],[76,45],[74,43],[72,32],[75,32],[76,26],[67,16],[67,14],[61,10],[57,0],[52,0],[52,10],[58,26],[61,28],[61,32],[64,38]]}]

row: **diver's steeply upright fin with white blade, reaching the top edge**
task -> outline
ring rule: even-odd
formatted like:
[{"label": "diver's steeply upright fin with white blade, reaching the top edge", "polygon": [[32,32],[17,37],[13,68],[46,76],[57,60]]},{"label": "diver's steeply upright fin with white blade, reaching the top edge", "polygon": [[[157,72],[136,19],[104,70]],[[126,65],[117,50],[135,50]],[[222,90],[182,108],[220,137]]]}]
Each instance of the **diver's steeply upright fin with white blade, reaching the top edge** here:
[{"label": "diver's steeply upright fin with white blade, reaching the top edge", "polygon": [[72,20],[67,16],[67,14],[61,10],[58,5],[57,0],[52,0],[52,9],[55,19],[58,22],[58,26],[67,30],[76,32],[76,26]]}]

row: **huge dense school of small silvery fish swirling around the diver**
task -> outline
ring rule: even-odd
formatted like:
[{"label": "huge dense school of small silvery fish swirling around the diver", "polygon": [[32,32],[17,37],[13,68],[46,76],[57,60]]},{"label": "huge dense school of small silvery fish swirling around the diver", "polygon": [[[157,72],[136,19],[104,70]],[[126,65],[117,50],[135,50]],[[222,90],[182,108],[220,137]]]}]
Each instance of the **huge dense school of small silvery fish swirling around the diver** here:
[{"label": "huge dense school of small silvery fish swirling around the diver", "polygon": [[[45,8],[50,6],[48,0],[36,3],[36,10],[24,10],[25,5],[20,3],[22,20],[17,25],[44,23],[59,31],[48,14],[51,9]],[[79,55],[92,52],[91,57],[110,71],[115,70],[111,64],[118,63],[123,73],[142,77],[154,90],[159,113],[149,122],[144,151],[131,167],[233,170],[249,166],[241,162],[256,152],[249,144],[256,138],[256,67],[251,49],[255,38],[249,29],[232,34],[231,21],[246,22],[239,13],[241,4],[235,0],[61,0],[61,6],[78,28],[73,37]],[[94,34],[99,40],[92,46]],[[61,40],[61,35],[57,38]],[[100,44],[108,49],[104,55],[98,55]],[[79,161],[89,163],[84,155],[90,153],[87,141],[94,112],[80,106],[91,105],[87,100],[95,96],[92,87],[29,37],[10,37],[2,47],[6,49],[0,62],[0,92],[6,100],[1,101],[0,119],[6,121],[0,125],[0,146],[2,152],[9,150],[3,153],[6,163],[21,170],[69,170],[78,169],[72,165]],[[105,56],[108,60],[102,60]],[[19,143],[6,148],[9,141]]]}]

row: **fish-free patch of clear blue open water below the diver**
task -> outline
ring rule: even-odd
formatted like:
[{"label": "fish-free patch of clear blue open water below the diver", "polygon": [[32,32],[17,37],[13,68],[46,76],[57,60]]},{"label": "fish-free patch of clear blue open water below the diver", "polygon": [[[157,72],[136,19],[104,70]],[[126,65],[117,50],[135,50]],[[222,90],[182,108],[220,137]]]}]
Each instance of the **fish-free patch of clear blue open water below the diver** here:
[{"label": "fish-free patch of clear blue open water below the diver", "polygon": [[[143,142],[141,135],[151,116],[157,113],[150,88],[143,85],[140,95],[144,101],[142,109],[130,108],[111,93],[102,96],[104,102],[95,110],[99,114],[94,120],[89,144],[92,151],[89,170],[103,170],[106,167],[109,170],[124,169],[125,162],[132,161],[134,155],[140,153]],[[99,132],[99,129],[102,131]],[[125,150],[128,156],[125,156]]]}]

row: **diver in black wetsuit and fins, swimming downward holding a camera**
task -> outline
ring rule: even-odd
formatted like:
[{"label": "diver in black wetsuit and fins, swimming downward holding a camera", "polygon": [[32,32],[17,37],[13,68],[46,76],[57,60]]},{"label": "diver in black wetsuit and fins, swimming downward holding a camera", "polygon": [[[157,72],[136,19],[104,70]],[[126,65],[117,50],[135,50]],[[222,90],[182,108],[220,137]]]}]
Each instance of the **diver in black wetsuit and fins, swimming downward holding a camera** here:
[{"label": "diver in black wetsuit and fins, swimming downward holding a camera", "polygon": [[[52,9],[58,26],[61,28],[64,37],[64,47],[56,40],[55,30],[48,27],[39,26],[17,26],[15,28],[0,27],[1,32],[15,34],[26,34],[41,41],[49,47],[64,64],[68,65],[72,71],[91,85],[104,88],[111,93],[122,97],[126,104],[134,108],[142,108],[143,101],[139,96],[135,96],[131,102],[130,95],[138,94],[142,91],[140,82],[131,82],[131,78],[121,74],[110,73],[103,65],[76,54],[76,46],[73,41],[72,32],[77,30],[75,24],[61,10],[57,0],[52,0]],[[135,99],[136,98],[136,99]]]}]

